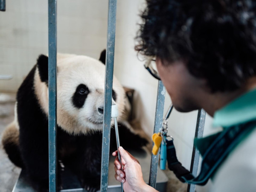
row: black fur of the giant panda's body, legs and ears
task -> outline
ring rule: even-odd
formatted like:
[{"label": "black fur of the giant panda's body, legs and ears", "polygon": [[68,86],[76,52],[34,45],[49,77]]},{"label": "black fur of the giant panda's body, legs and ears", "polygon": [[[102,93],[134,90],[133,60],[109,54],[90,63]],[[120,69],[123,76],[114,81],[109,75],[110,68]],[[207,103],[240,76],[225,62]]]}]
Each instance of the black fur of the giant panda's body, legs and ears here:
[{"label": "black fur of the giant panda's body, legs and ears", "polygon": [[[105,61],[105,58],[100,58]],[[47,191],[48,173],[48,117],[35,95],[34,76],[38,68],[42,82],[48,86],[48,57],[40,55],[17,91],[17,125],[15,122],[3,135],[3,146],[10,160],[25,169],[36,191]],[[113,91],[113,99],[116,93]],[[81,107],[82,101],[74,103]],[[17,127],[16,125],[16,127]],[[12,130],[12,131],[10,131]],[[16,136],[12,136],[15,132]],[[13,135],[15,135],[13,134]],[[17,137],[18,139],[14,137]],[[132,133],[125,124],[119,122],[120,144],[124,148],[141,148],[147,140]],[[15,142],[13,142],[15,140]],[[102,131],[88,134],[69,134],[57,126],[57,169],[58,189],[61,189],[61,165],[68,167],[79,178],[81,185],[94,191],[100,186]],[[116,150],[115,131],[111,129],[110,151]]]}]

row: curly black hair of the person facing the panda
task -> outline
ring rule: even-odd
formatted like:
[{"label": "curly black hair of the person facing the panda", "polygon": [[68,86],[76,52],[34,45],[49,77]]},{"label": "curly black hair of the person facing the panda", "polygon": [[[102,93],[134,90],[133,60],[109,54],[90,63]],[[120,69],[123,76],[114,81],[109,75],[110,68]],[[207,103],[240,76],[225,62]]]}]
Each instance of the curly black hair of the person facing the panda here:
[{"label": "curly black hair of the person facing the panda", "polygon": [[256,76],[256,0],[146,0],[135,50],[232,91]]}]

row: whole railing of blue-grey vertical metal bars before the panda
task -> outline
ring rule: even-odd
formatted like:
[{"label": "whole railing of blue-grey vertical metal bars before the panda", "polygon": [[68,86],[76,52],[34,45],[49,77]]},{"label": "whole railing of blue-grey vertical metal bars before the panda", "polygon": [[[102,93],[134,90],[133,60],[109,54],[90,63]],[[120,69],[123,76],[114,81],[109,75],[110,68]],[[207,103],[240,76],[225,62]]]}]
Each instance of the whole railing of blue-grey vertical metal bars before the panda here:
[{"label": "whole railing of blue-grey vertical metal bars before the panda", "polygon": [[[5,1],[0,0],[0,9],[5,9]],[[57,0],[48,0],[48,24],[49,24],[49,192],[56,191],[56,54],[57,54]],[[115,30],[116,30],[116,0],[109,0],[108,3],[108,34],[107,53],[105,71],[105,105],[104,105],[104,128],[102,135],[102,171],[101,171],[101,192],[108,189],[108,164],[109,164],[109,143],[111,128],[111,102],[113,86],[113,61],[115,50]],[[163,120],[163,106],[165,100],[165,87],[161,81],[158,82],[157,106],[155,113],[154,133],[160,132]],[[205,112],[198,111],[198,121],[196,125],[195,137],[202,137],[204,130]],[[159,153],[151,157],[151,167],[149,185],[156,187],[157,166]],[[198,171],[199,153],[193,148],[191,171],[194,175]],[[188,186],[187,191],[195,192],[195,185]]]}]

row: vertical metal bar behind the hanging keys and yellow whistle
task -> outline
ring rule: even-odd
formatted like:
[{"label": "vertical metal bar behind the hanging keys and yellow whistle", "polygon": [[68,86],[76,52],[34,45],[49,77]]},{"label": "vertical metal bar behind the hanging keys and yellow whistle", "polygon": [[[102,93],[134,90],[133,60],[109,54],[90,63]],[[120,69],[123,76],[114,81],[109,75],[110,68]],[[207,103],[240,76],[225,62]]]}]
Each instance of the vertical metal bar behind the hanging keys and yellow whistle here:
[{"label": "vertical metal bar behind the hanging keys and yellow whistle", "polygon": [[[154,133],[160,132],[161,128],[162,128],[165,93],[166,93],[166,89],[163,86],[163,82],[158,81],[157,106],[156,106],[156,113],[155,113]],[[151,165],[150,165],[148,184],[154,188],[156,188],[156,182],[157,182],[158,160],[159,160],[159,151],[157,152],[157,155],[151,154]]]}]

